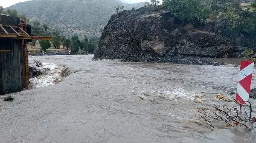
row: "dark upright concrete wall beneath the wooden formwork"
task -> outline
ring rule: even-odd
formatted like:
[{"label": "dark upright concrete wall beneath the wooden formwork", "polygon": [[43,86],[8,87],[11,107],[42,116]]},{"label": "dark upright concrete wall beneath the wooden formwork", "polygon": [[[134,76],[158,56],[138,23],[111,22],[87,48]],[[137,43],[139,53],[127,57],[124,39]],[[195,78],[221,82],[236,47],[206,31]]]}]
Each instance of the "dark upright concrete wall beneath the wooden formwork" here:
[{"label": "dark upright concrete wall beneath the wooden formwork", "polygon": [[[12,64],[12,53],[10,52],[1,52],[0,51],[0,61],[7,61],[3,64],[0,63],[0,89],[6,90],[12,81],[9,79],[15,79],[14,84],[11,85],[9,93],[16,91],[21,91],[24,87],[24,62],[23,62],[23,49],[22,49],[22,39],[2,39],[0,38],[0,50],[12,50],[13,53],[13,63]],[[10,71],[10,72],[8,72]],[[14,75],[14,76],[12,76]],[[9,78],[9,79],[6,79]],[[2,81],[8,81],[1,83]],[[0,90],[0,95],[3,95],[3,92]]]}]

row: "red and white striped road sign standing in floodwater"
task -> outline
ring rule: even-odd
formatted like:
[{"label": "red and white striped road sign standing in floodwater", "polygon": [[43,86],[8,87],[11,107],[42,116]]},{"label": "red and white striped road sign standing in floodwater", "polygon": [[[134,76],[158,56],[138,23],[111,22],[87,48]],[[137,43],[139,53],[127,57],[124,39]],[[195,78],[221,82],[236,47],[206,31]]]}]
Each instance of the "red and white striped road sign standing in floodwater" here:
[{"label": "red and white striped road sign standing in floodwater", "polygon": [[253,77],[254,62],[241,61],[238,84],[236,90],[236,101],[240,104],[246,104],[250,93],[250,85]]}]

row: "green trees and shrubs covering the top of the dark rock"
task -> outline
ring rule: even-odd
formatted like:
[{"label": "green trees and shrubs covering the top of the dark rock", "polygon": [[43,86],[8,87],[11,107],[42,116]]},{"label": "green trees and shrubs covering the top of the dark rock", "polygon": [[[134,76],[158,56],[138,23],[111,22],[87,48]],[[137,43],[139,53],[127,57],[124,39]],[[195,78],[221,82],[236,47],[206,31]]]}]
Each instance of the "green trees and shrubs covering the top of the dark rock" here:
[{"label": "green trees and shrubs covering the top of the dark rock", "polygon": [[[150,0],[145,6],[155,10],[159,0]],[[256,33],[256,0],[241,8],[237,0],[163,0],[163,6],[180,22],[202,25],[207,20],[223,20],[232,30],[241,30],[245,34]]]}]

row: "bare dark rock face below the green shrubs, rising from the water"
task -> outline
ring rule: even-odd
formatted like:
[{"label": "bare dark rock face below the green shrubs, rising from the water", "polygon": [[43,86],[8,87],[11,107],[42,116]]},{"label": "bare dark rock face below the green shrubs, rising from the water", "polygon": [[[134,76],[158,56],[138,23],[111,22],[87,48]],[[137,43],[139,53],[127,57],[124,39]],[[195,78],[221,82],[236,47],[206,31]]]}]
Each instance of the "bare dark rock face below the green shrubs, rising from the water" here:
[{"label": "bare dark rock face below the green shrubs, rising from the water", "polygon": [[105,26],[94,59],[214,65],[193,57],[230,57],[247,49],[243,47],[245,37],[239,40],[234,36],[241,41],[235,45],[237,40],[223,35],[224,27],[217,24],[184,24],[163,7],[157,11],[146,7],[122,11],[114,14]]}]

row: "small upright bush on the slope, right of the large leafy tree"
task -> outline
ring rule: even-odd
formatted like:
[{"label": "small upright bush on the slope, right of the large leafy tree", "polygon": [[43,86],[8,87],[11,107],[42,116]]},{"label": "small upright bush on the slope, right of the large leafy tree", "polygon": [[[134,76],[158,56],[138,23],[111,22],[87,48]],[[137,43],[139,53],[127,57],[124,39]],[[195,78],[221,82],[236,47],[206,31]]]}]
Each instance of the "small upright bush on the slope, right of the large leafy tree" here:
[{"label": "small upright bush on the slope, right of the large leafy tree", "polygon": [[227,20],[228,28],[230,30],[233,30],[234,28],[239,26],[239,20],[241,19],[241,17],[239,14],[235,14],[233,7],[229,7],[227,9],[225,17]]}]

